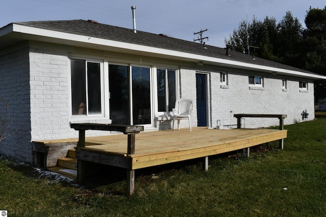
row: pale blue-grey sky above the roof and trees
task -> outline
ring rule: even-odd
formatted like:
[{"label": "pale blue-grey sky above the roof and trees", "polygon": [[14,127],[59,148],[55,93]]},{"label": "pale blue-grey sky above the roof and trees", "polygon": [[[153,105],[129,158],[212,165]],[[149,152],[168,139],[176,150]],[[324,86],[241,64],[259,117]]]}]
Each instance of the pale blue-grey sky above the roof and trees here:
[{"label": "pale blue-grey sky above the roof and trees", "polygon": [[[290,11],[305,26],[310,7],[323,9],[323,0],[1,0],[0,26],[11,22],[92,19],[99,23],[132,28],[131,6],[136,6],[136,27],[154,34],[187,41],[208,29],[206,44],[225,47],[242,20],[275,17],[279,22]],[[247,6],[247,7],[246,7]],[[248,10],[247,10],[248,9]]]}]

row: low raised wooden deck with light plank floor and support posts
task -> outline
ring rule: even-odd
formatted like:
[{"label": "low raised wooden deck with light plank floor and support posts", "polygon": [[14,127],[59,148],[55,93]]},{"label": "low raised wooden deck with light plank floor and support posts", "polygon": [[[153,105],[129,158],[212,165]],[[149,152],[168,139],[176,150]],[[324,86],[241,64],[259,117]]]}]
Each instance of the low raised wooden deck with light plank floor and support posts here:
[{"label": "low raised wooden deck with light plank floor and support posts", "polygon": [[[86,144],[94,145],[77,147],[76,158],[79,165],[94,162],[125,168],[129,172],[196,158],[203,158],[208,164],[208,156],[249,148],[286,136],[286,130],[271,129],[194,128],[192,132],[188,129],[141,132],[135,135],[133,154],[127,154],[127,135],[88,137]],[[205,167],[208,168],[208,165]],[[84,171],[78,170],[78,173]],[[134,174],[131,173],[131,176],[134,177]],[[83,176],[78,174],[79,178]],[[129,194],[133,191],[133,181],[132,177],[127,177]]]}]

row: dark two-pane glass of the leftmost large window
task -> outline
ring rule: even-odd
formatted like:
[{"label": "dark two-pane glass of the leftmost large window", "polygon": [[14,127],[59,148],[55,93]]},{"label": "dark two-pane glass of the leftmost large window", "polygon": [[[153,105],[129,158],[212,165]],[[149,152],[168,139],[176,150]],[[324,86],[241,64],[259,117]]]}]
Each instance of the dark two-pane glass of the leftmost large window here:
[{"label": "dark two-pane glass of the leftmost large window", "polygon": [[71,59],[72,115],[101,115],[102,63]]}]

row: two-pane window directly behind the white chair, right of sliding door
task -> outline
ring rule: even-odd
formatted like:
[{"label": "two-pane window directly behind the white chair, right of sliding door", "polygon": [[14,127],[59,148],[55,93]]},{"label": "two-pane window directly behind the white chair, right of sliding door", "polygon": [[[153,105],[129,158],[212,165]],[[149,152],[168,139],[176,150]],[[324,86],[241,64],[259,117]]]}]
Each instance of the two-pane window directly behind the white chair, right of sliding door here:
[{"label": "two-pane window directly behind the white chair, right of sliding door", "polygon": [[172,111],[176,101],[176,71],[157,69],[158,112]]}]

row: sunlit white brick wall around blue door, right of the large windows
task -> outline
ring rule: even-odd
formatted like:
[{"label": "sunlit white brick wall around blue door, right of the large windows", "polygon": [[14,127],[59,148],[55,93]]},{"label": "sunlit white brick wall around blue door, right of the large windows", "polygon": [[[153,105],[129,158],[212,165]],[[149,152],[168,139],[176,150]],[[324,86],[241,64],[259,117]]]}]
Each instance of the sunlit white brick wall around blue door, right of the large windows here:
[{"label": "sunlit white brick wall around blue door, right of the large windows", "polygon": [[[203,71],[205,72],[205,70]],[[287,89],[282,89],[282,78],[279,76],[263,76],[263,88],[249,88],[248,75],[242,72],[228,71],[228,85],[221,87],[220,73],[207,72],[209,89],[210,126],[215,128],[221,124],[224,129],[236,125],[236,113],[287,114],[285,125],[301,122],[301,113],[307,109],[309,118],[314,119],[313,83],[308,83],[308,91],[299,91],[298,80],[287,79]],[[193,126],[197,126],[196,111],[196,71],[180,70],[182,98],[195,101]],[[245,118],[246,128],[278,126],[278,118]],[[181,128],[188,127],[187,121],[181,120]]]}]

